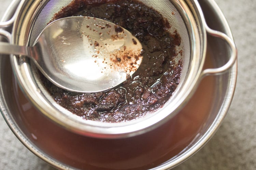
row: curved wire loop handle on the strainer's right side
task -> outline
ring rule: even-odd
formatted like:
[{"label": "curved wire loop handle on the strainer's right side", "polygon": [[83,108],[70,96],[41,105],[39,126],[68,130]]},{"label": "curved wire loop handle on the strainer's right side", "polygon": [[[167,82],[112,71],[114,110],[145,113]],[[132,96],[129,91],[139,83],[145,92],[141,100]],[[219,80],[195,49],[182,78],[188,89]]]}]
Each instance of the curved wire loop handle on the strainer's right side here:
[{"label": "curved wire loop handle on the strainer's right side", "polygon": [[207,26],[207,24],[205,24],[205,28],[206,31],[209,35],[214,36],[214,37],[218,37],[218,38],[222,38],[223,40],[226,41],[226,43],[229,45],[230,47],[230,58],[229,61],[223,65],[222,67],[219,68],[209,68],[209,69],[205,69],[202,71],[202,76],[207,76],[207,75],[219,75],[224,73],[225,71],[227,71],[230,67],[232,67],[234,65],[234,63],[237,60],[237,48],[236,45],[234,44],[234,41],[232,40],[232,38],[230,38],[229,36],[227,36],[226,34],[220,32],[220,31],[216,31],[213,30],[211,28],[209,28]]}]

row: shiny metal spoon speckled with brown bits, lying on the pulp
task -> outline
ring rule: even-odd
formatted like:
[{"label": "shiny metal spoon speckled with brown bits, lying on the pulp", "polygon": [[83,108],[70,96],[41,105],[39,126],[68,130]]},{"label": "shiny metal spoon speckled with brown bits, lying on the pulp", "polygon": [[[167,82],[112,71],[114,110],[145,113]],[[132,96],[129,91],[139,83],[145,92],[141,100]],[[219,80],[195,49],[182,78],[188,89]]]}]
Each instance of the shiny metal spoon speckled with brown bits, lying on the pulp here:
[{"label": "shiny metal spoon speckled with brown bits, lying on the pulp", "polygon": [[142,46],[106,20],[67,17],[50,23],[34,46],[0,43],[0,53],[30,57],[47,79],[72,92],[113,88],[139,67]]}]

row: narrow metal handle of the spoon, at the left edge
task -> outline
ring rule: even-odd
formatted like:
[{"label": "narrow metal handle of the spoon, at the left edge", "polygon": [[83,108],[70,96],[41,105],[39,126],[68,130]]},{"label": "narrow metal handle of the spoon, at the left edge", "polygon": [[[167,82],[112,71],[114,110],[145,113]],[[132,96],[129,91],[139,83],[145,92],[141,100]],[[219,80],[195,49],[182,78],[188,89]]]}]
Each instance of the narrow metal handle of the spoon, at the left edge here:
[{"label": "narrow metal handle of the spoon, at the left edge", "polygon": [[10,43],[0,42],[0,54],[19,54],[29,56],[29,48]]}]

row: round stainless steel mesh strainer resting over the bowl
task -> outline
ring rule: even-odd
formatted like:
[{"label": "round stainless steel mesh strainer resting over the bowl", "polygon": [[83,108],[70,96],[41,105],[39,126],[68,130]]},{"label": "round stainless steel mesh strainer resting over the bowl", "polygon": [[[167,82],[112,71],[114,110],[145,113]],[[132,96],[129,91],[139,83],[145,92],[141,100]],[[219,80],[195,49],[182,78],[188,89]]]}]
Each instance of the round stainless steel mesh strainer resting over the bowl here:
[{"label": "round stainless steel mesh strainer resting over the bowl", "polygon": [[[13,43],[33,45],[40,32],[52,20],[55,13],[72,0],[23,0],[16,12],[13,28]],[[207,27],[197,1],[190,0],[140,0],[154,8],[171,25],[170,32],[181,36],[182,51],[176,61],[182,59],[180,84],[169,101],[156,112],[135,120],[106,123],[84,120],[59,106],[44,89],[37,69],[25,56],[11,56],[16,78],[30,101],[45,116],[65,128],[87,136],[99,138],[119,138],[138,135],[161,125],[173,117],[193,94],[200,79],[208,74],[219,74],[233,65],[236,60],[236,48],[232,40],[223,33]],[[221,68],[202,70],[205,58],[207,32],[221,37],[230,45],[230,60]]]}]

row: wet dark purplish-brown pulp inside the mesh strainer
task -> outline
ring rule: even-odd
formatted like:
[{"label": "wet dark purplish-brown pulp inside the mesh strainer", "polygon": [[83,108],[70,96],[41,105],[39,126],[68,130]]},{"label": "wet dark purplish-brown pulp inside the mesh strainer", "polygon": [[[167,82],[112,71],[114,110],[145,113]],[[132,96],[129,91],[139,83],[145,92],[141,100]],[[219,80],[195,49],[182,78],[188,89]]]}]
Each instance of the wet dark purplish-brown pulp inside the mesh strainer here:
[{"label": "wet dark purplish-brown pulp inside the mesh strainer", "polygon": [[87,120],[122,122],[154,112],[168,101],[180,81],[182,63],[175,63],[174,57],[181,39],[167,31],[170,25],[158,12],[136,0],[74,0],[54,19],[68,16],[96,17],[124,27],[141,42],[143,61],[123,84],[94,94],[64,91],[42,77],[59,105]]}]

